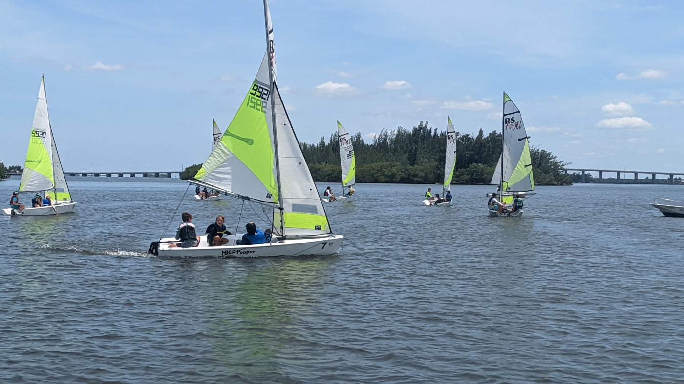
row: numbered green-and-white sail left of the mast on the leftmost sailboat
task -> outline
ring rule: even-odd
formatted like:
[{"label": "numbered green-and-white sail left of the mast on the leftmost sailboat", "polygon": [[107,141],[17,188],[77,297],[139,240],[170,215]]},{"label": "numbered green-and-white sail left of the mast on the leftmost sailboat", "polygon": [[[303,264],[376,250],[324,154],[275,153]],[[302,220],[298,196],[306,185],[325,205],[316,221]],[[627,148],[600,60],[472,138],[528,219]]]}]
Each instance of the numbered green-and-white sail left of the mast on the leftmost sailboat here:
[{"label": "numbered green-and-white sail left of the mast on the leftmost sailboat", "polygon": [[47,191],[53,187],[55,176],[52,165],[52,132],[47,113],[45,77],[42,77],[19,191]]}]

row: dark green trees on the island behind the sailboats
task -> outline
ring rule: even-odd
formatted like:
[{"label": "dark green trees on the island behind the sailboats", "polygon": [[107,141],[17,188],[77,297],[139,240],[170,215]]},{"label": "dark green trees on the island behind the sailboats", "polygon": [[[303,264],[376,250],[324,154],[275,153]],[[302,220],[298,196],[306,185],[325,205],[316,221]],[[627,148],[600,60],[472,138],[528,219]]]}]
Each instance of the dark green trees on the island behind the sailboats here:
[{"label": "dark green trees on the island behind the sailboats", "polygon": [[[412,129],[399,127],[380,131],[366,142],[360,133],[352,135],[356,156],[356,182],[402,184],[441,184],[444,178],[446,132],[420,122]],[[477,135],[456,133],[456,172],[453,184],[488,184],[501,155],[501,133]],[[315,182],[340,182],[339,141],[337,133],[318,143],[300,143]],[[567,165],[553,153],[531,148],[534,181],[537,185],[569,185]],[[192,178],[201,164],[187,167],[181,178]]]}]

